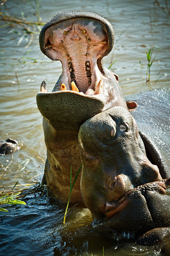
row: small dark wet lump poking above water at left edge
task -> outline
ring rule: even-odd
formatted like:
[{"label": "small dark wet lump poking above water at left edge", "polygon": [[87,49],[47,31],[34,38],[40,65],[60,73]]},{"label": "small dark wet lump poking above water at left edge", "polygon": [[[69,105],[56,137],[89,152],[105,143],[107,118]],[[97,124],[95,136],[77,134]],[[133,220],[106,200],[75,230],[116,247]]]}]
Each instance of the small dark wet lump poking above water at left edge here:
[{"label": "small dark wet lump poking above water at left edge", "polygon": [[18,149],[17,145],[17,140],[0,140],[0,155],[6,155],[15,152]]}]

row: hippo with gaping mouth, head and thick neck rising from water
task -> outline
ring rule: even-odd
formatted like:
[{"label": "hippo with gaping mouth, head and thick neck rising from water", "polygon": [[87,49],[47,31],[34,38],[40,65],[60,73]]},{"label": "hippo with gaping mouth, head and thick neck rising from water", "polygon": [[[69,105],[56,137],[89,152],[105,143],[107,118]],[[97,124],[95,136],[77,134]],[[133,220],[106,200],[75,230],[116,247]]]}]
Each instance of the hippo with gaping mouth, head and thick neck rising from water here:
[{"label": "hippo with gaping mouth, head and thick neck rising from water", "polygon": [[[93,12],[61,12],[42,28],[39,41],[41,51],[51,60],[60,60],[63,67],[53,91],[47,92],[43,81],[37,94],[47,147],[43,182],[51,196],[67,202],[70,167],[75,177],[81,165],[80,125],[113,106],[132,110],[137,105],[124,100],[118,76],[103,67],[102,58],[114,43],[113,27],[103,17]],[[70,202],[82,202],[80,176]]]}]

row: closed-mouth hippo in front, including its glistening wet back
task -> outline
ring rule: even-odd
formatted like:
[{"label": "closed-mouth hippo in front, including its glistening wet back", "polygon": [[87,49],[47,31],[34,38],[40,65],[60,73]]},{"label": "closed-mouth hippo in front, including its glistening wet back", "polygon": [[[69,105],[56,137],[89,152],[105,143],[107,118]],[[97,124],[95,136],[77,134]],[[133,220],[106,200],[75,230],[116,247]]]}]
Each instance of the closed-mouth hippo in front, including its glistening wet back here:
[{"label": "closed-mouth hippo in front, including its glistening wet back", "polygon": [[[87,120],[78,135],[85,205],[106,227],[135,231],[139,244],[162,245],[170,238],[170,197],[165,195],[170,185],[168,92],[135,95],[135,119],[127,109],[113,107]],[[147,155],[139,147],[136,122]]]}]

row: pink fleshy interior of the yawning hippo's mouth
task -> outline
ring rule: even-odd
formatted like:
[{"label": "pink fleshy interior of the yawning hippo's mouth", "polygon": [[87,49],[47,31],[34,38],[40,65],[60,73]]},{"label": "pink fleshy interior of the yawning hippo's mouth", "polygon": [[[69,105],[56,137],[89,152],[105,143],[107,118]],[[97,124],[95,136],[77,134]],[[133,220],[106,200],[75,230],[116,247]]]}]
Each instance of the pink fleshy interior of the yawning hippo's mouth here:
[{"label": "pink fleshy interior of the yawning hippo's mouth", "polygon": [[45,32],[45,51],[63,66],[61,83],[71,90],[75,82],[79,92],[94,94],[101,79],[97,59],[107,50],[105,25],[92,18],[74,18],[57,23]]}]

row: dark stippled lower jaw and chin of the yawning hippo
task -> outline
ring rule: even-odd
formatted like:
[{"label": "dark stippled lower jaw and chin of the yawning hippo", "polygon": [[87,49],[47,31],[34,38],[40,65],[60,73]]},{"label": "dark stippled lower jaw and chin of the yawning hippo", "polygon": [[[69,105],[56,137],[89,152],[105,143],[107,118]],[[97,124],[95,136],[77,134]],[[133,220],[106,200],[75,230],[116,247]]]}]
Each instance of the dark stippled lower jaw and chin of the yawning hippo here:
[{"label": "dark stippled lower jaw and chin of the yawning hippo", "polygon": [[39,92],[36,99],[42,116],[55,129],[79,130],[87,119],[102,112],[105,105],[102,94],[89,96],[75,91]]}]

